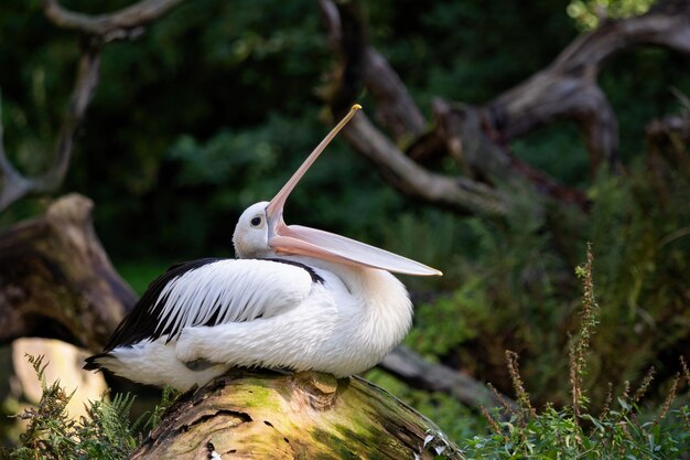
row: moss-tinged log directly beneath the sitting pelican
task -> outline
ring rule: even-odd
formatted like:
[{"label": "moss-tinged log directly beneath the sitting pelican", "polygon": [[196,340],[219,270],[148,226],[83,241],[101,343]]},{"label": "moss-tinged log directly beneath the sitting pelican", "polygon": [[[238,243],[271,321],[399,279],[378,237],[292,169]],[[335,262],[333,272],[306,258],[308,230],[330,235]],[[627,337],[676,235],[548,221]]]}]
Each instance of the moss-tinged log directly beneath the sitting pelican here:
[{"label": "moss-tinged log directly beneath the sitting pelican", "polygon": [[182,395],[130,459],[463,459],[432,421],[358,377],[236,370]]}]

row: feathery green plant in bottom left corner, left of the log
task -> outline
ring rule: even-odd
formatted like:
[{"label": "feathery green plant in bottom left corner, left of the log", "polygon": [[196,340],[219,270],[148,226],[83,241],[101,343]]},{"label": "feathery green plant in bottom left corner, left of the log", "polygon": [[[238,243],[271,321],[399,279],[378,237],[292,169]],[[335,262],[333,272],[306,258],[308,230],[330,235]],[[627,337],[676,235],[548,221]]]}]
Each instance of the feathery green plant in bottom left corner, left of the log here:
[{"label": "feathery green plant in bottom left corner, left of the log", "polygon": [[79,419],[69,418],[66,408],[71,394],[60,381],[48,384],[43,357],[28,356],[41,382],[42,396],[37,407],[30,407],[19,417],[28,420],[26,431],[20,436],[21,446],[10,458],[18,460],[61,460],[126,458],[141,441],[141,431],[153,429],[161,420],[165,407],[172,404],[176,393],[171,388],[163,392],[163,398],[152,415],[130,420],[130,409],[134,396],[116,395],[111,402],[104,396],[91,402],[87,415]]}]

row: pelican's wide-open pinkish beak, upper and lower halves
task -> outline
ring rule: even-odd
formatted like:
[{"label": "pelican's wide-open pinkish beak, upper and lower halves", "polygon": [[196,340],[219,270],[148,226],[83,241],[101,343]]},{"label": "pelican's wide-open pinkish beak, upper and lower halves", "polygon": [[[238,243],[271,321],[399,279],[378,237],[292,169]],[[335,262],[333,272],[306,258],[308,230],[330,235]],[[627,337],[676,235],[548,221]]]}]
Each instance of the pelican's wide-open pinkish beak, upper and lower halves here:
[{"label": "pelican's wide-open pinkish beak, upper and lower halves", "polygon": [[300,169],[290,178],[278,194],[266,207],[268,221],[268,244],[276,252],[301,256],[317,257],[339,264],[359,265],[379,268],[405,275],[432,276],[442,275],[441,271],[418,261],[389,253],[377,247],[356,242],[333,233],[304,227],[287,225],[282,218],[283,207],[288,196],[300,182],[304,173],[319,158],[325,147],[335,138],[341,129],[355,116],[362,106],[354,105],[349,113],[335,128],[316,146],[314,151],[302,163]]}]

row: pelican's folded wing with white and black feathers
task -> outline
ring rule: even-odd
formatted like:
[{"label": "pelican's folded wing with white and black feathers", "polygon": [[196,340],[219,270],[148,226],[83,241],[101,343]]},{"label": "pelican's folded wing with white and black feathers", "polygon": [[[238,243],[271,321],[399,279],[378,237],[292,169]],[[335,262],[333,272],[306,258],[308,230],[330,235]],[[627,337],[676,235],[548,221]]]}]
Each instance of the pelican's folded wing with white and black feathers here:
[{"label": "pelican's folded wing with white and black feathers", "polygon": [[149,286],[105,351],[142,340],[173,340],[184,328],[252,321],[298,306],[313,282],[310,267],[279,259],[201,259],[172,266]]}]

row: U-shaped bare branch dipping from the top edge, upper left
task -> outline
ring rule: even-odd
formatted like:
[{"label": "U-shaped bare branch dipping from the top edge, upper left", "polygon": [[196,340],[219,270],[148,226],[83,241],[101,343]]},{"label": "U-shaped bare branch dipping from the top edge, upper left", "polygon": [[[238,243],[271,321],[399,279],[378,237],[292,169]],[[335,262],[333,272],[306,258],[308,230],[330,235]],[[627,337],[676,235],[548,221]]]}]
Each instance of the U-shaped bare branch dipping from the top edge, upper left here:
[{"label": "U-shaped bare branch dipping from the top edge, upper left", "polygon": [[149,24],[171,11],[183,0],[143,0],[108,14],[88,15],[69,11],[57,0],[43,0],[45,15],[62,29],[96,35],[104,41],[130,36],[131,31]]}]

